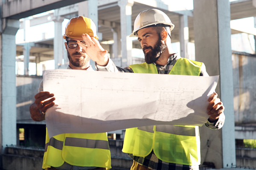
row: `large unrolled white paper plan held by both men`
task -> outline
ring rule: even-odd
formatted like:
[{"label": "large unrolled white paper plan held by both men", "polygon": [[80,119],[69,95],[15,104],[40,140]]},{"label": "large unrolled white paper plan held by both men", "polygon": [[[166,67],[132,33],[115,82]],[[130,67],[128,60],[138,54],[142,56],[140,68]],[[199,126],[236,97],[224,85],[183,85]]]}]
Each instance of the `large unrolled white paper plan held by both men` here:
[{"label": "large unrolled white paper plan held by both men", "polygon": [[204,125],[207,99],[218,76],[44,71],[44,91],[54,94],[46,112],[49,137],[101,133],[147,125]]}]

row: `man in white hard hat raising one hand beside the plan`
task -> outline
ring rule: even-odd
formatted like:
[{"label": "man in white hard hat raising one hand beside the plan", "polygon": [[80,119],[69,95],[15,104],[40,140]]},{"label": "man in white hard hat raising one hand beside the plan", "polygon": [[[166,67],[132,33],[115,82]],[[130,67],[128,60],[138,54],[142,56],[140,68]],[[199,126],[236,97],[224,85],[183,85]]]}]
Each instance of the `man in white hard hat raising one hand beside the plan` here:
[{"label": "man in white hard hat raising one hand beside the plan", "polygon": [[[96,39],[84,34],[86,45],[78,43],[96,62],[98,71],[208,76],[204,63],[182,58],[172,50],[174,27],[163,11],[142,11],[134,21],[130,37],[138,37],[145,62],[126,68],[116,67]],[[224,105],[217,96],[213,93],[208,99],[209,119],[205,125],[211,129],[220,129],[225,120]],[[181,125],[129,128],[122,151],[134,160],[131,170],[198,169],[201,162],[199,129]]]}]

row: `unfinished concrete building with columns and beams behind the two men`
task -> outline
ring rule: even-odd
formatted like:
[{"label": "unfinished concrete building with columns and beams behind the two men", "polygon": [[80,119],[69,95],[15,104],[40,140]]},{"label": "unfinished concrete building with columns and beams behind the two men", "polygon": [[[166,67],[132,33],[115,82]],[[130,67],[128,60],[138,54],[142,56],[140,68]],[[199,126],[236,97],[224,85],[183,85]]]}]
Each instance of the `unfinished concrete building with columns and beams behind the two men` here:
[{"label": "unfinished concrete building with columns and beams behind the two men", "polygon": [[[164,11],[175,24],[172,42],[180,42],[181,57],[204,62],[210,76],[220,75],[216,91],[225,105],[226,122],[221,130],[200,128],[201,168],[256,167],[255,151],[236,148],[235,144],[236,139],[238,142],[256,139],[256,56],[232,51],[230,38],[238,33],[256,35],[255,30],[230,26],[230,20],[256,16],[255,0],[194,0],[193,10],[177,8],[175,1],[170,5],[161,0],[0,0],[0,3],[1,168],[41,168],[44,150],[38,148],[44,147],[45,122],[30,118],[29,105],[34,102],[46,61],[54,60],[55,69],[67,68],[61,34],[64,20],[79,15],[91,18],[103,48],[117,66],[125,67],[144,62],[133,53],[134,49],[141,49],[140,43],[128,36],[137,14],[148,8]],[[42,40],[29,40],[30,27],[52,21],[53,38],[42,34]],[[19,29],[23,29],[24,37],[16,43]],[[189,43],[195,45],[194,53]],[[16,68],[15,62],[22,62],[23,66]],[[35,63],[35,75],[29,75],[29,63]],[[19,136],[19,130],[23,130],[24,136]],[[116,139],[109,142],[114,169],[129,169],[132,163],[121,152],[124,132],[110,133]]]}]

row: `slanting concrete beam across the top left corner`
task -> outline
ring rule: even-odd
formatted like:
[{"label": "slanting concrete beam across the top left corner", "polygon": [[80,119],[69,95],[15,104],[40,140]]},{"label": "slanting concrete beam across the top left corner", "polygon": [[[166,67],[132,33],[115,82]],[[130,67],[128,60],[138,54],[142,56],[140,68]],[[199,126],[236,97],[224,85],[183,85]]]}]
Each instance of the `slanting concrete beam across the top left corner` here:
[{"label": "slanting concrete beam across the top left corner", "polygon": [[20,19],[85,0],[11,0],[2,5],[2,17]]}]

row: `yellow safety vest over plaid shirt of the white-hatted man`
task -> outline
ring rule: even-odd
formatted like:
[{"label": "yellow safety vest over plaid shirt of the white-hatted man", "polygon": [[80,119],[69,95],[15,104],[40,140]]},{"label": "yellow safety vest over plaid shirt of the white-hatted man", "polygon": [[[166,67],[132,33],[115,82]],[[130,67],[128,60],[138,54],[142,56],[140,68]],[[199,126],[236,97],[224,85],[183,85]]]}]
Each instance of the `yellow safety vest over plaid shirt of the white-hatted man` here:
[{"label": "yellow safety vest over plaid shirt of the white-hatted man", "polygon": [[[201,62],[180,58],[169,74],[199,76]],[[154,64],[130,65],[134,73],[157,74]],[[182,125],[154,125],[126,129],[122,151],[132,153],[134,156],[145,157],[154,153],[162,161],[199,165],[200,136],[198,126]]]}]

